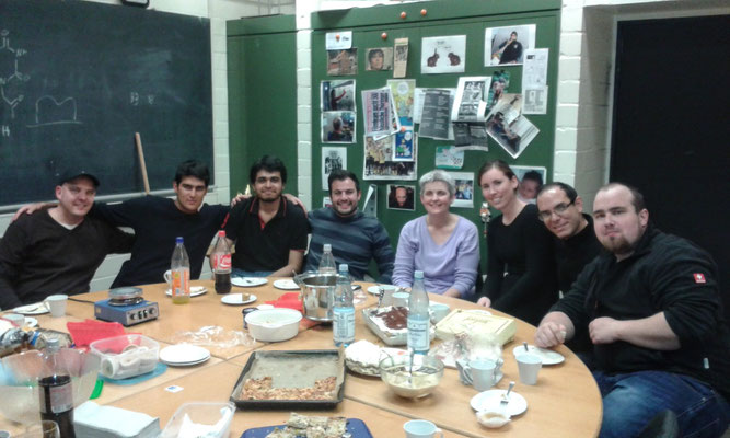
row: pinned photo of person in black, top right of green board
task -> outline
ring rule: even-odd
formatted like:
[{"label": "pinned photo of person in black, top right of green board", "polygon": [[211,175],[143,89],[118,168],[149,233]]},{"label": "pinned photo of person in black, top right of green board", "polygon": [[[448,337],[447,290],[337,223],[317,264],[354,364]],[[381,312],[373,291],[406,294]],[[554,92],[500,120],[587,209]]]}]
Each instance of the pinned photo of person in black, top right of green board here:
[{"label": "pinned photo of person in black, top right of green board", "polygon": [[484,65],[519,65],[524,50],[535,48],[534,24],[505,27],[487,27],[484,32]]}]

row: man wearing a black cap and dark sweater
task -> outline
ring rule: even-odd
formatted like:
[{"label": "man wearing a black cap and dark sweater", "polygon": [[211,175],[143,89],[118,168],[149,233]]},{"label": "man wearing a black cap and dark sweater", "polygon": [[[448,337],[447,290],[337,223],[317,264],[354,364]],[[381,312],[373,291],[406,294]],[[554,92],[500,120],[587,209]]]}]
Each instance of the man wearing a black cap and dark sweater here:
[{"label": "man wearing a black cap and dark sweater", "polygon": [[94,175],[67,172],[56,186],[57,206],[8,227],[0,241],[0,309],[88,292],[107,254],[129,252],[134,235],[86,217],[96,187]]}]

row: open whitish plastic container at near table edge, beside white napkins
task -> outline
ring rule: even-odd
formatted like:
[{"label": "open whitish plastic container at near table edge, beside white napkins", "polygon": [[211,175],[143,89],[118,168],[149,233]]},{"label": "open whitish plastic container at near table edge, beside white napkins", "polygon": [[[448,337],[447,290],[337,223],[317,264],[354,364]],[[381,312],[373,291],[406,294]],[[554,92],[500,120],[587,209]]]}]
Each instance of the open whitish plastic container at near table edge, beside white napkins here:
[{"label": "open whitish plastic container at near table edge, beside white napkins", "polygon": [[230,402],[185,403],[175,411],[160,438],[177,438],[183,430],[192,437],[228,438],[234,413],[235,405]]}]

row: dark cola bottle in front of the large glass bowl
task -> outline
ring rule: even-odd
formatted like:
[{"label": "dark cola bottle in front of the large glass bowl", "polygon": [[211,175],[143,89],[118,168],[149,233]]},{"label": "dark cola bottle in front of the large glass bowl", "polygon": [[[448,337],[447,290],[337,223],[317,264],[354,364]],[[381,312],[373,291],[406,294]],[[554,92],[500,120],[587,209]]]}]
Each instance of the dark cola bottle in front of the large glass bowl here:
[{"label": "dark cola bottle in front of the large glass bowl", "polygon": [[43,354],[43,377],[38,379],[40,418],[56,422],[61,438],[76,438],[71,374],[59,350],[58,339],[48,339]]}]

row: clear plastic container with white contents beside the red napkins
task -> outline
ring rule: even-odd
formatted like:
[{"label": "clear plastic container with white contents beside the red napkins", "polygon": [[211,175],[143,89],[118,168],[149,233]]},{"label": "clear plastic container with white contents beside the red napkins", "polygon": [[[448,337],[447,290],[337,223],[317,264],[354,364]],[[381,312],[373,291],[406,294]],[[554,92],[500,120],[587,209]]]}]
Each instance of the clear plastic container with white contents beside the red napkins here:
[{"label": "clear plastic container with white contents beside the red napkins", "polygon": [[108,379],[128,379],[154,370],[160,344],[142,335],[100,339],[89,345],[101,358],[101,374]]}]

